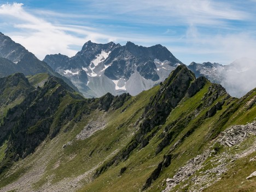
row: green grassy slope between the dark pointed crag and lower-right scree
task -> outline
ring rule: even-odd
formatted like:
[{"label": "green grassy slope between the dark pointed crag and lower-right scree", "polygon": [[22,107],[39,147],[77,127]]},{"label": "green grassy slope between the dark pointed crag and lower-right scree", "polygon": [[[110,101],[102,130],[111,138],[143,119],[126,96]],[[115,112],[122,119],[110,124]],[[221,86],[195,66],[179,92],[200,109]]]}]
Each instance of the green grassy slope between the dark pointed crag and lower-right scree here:
[{"label": "green grassy slope between the dark pointed crag and lower-right scree", "polygon": [[[255,91],[252,91],[238,100],[226,94],[221,86],[207,82],[193,97],[185,96],[164,124],[153,127],[147,133],[152,139],[146,147],[137,147],[129,158],[118,164],[115,161],[107,171],[79,191],[165,189],[165,179],[172,177],[178,167],[189,159],[201,154],[225,127],[254,120],[255,102],[251,101],[254,96]],[[251,107],[245,108],[245,103],[249,101]],[[208,112],[218,106],[217,103],[222,103],[222,106],[207,117]],[[159,148],[162,148],[160,152]],[[167,162],[167,157],[171,162]],[[121,170],[125,170],[124,173],[121,174]]]}]

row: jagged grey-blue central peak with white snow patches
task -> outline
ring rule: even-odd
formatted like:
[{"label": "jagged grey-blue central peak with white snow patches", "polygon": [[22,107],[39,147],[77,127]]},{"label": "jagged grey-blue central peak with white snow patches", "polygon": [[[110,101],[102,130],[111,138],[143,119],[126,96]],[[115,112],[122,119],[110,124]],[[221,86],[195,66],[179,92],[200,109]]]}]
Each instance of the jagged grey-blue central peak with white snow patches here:
[{"label": "jagged grey-blue central peak with white snow patches", "polygon": [[121,46],[91,41],[71,58],[47,55],[43,61],[71,79],[85,97],[100,97],[107,92],[137,95],[162,82],[182,63],[161,45],[146,48],[131,42]]}]

